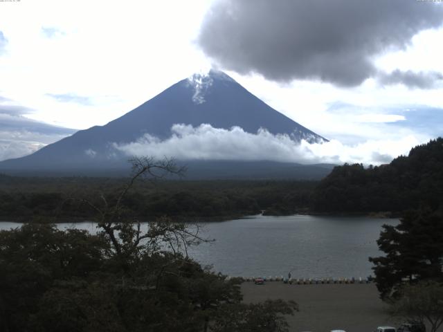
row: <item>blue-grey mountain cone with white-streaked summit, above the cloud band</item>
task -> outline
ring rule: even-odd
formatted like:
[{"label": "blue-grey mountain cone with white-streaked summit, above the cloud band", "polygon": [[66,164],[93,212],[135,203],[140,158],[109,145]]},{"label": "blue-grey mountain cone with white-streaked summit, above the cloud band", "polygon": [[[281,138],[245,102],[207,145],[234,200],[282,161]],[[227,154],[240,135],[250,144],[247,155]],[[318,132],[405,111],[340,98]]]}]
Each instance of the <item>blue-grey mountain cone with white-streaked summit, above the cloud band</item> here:
[{"label": "blue-grey mountain cone with white-streaked summit, above the cloud band", "polygon": [[[173,124],[216,128],[239,126],[249,133],[266,128],[293,140],[325,140],[275,111],[228,75],[210,71],[170,86],[156,97],[105,126],[91,127],[39,151],[0,163],[0,169],[62,170],[127,168],[127,156],[113,143],[134,142],[146,133],[160,139],[171,135]],[[150,151],[147,151],[150,154]]]}]

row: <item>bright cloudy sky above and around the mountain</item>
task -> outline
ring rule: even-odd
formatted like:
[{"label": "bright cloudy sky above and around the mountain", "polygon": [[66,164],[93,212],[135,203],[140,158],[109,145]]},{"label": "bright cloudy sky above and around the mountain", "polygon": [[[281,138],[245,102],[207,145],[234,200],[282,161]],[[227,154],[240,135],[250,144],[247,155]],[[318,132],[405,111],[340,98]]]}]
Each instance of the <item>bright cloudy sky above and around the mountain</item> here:
[{"label": "bright cloudy sky above and around the mountain", "polygon": [[442,24],[415,0],[3,1],[0,160],[215,66],[332,140],[318,158],[380,163],[443,135]]}]

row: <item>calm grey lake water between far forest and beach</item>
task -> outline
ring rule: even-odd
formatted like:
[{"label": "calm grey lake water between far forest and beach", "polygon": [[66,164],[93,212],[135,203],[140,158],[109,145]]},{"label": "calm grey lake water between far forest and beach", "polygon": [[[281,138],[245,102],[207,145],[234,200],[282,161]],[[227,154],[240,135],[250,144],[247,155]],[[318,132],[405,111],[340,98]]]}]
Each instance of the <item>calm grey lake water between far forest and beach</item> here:
[{"label": "calm grey lake water between far forest and beach", "polygon": [[[339,278],[372,274],[370,256],[379,256],[381,225],[398,219],[336,216],[251,216],[201,223],[204,237],[215,239],[189,250],[201,264],[230,276]],[[0,222],[0,230],[18,227]],[[96,224],[60,223],[96,232]]]}]

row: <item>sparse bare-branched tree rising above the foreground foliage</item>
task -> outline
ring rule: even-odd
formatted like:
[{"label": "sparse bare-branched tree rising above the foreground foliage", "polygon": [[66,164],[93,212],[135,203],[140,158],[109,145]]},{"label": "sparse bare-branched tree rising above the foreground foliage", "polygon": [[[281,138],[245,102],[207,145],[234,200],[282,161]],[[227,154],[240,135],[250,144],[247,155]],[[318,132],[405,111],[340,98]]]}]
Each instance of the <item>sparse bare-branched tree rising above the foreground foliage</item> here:
[{"label": "sparse bare-branched tree rising above the foreground foliage", "polygon": [[138,260],[142,252],[154,252],[165,246],[174,254],[181,252],[188,257],[188,246],[208,241],[199,234],[199,225],[176,223],[163,216],[148,222],[147,229],[142,230],[138,219],[127,218],[123,204],[136,181],[158,181],[167,176],[183,176],[186,168],[177,166],[171,158],[157,160],[153,157],[134,157],[129,162],[132,164],[132,176],[118,192],[116,200],[110,203],[105,194],[100,194],[99,206],[89,199],[82,199],[83,203],[96,211],[99,230],[109,239],[115,254],[127,261]]}]

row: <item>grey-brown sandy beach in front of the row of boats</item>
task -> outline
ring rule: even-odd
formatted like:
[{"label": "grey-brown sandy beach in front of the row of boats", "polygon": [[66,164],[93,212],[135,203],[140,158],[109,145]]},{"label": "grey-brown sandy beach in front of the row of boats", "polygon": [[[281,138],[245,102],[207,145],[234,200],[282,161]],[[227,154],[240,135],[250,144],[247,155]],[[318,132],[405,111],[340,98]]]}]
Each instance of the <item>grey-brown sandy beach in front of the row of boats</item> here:
[{"label": "grey-brown sandy beach in front of the row of boats", "polygon": [[389,317],[374,284],[309,284],[295,285],[267,282],[255,285],[244,282],[245,302],[265,299],[292,299],[300,311],[288,317],[290,331],[373,332],[377,326],[398,327]]}]

